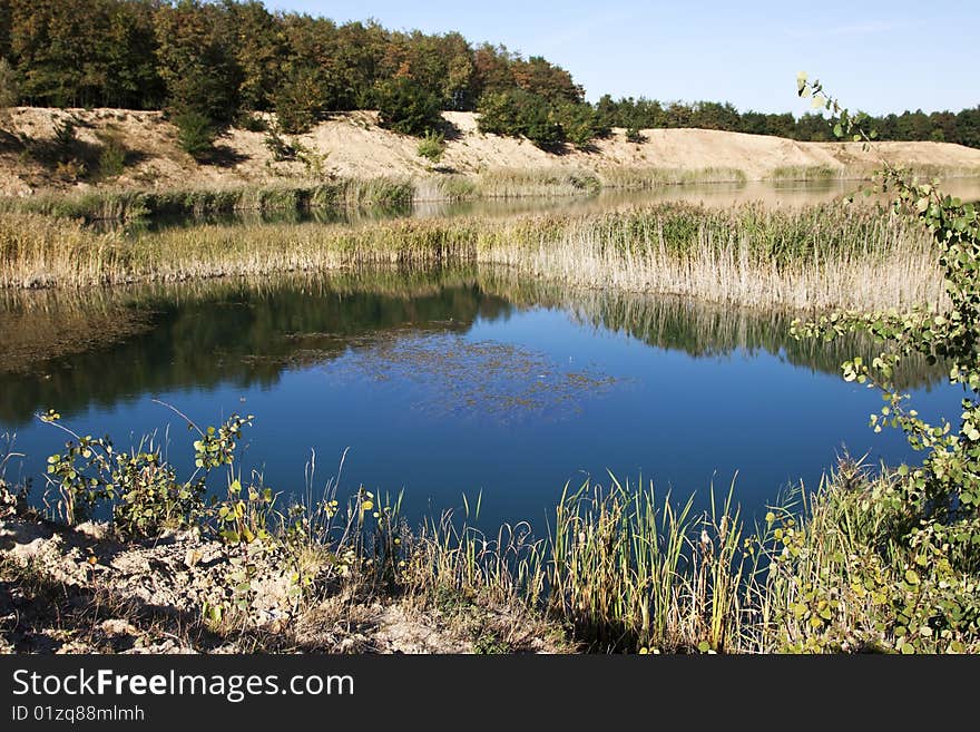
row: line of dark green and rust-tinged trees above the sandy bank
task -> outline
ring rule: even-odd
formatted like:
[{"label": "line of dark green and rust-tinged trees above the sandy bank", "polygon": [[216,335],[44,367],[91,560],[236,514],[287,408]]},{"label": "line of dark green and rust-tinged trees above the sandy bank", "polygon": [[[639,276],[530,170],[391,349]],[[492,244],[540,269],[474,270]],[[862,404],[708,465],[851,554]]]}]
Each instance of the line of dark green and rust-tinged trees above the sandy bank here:
[{"label": "line of dark green and rust-tinged trees above the sandy bank", "polygon": [[[483,131],[543,148],[587,148],[612,127],[704,127],[826,138],[816,115],[739,113],[729,104],[602,97],[540,56],[458,32],[402,32],[270,12],[258,0],[0,0],[0,98],[30,106],[161,109],[187,149],[274,111],[285,133],[330,113],[379,109],[383,125],[438,131],[441,110],[481,113]],[[6,96],[4,96],[6,95]],[[874,120],[883,139],[980,147],[980,107]]]}]

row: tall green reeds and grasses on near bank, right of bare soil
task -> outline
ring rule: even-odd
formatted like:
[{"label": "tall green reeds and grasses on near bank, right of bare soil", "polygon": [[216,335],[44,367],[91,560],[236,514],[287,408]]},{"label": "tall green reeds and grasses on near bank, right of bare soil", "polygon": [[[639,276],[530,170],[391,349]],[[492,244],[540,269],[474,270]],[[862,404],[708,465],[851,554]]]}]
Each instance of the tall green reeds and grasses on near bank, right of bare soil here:
[{"label": "tall green reeds and grasses on near bank, right of bare soil", "polygon": [[[423,602],[455,594],[539,612],[590,652],[894,652],[903,593],[920,591],[902,584],[914,549],[876,498],[892,481],[844,458],[754,527],[732,490],[696,514],[653,486],[586,482],[566,489],[546,538],[443,517],[412,541],[399,580]],[[980,650],[970,632],[951,637]]]}]

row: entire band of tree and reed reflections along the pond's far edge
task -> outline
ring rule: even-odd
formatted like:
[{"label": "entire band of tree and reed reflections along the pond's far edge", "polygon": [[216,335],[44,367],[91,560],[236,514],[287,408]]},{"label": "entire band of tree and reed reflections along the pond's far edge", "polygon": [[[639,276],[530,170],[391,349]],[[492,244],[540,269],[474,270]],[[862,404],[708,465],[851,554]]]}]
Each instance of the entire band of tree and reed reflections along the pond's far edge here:
[{"label": "entire band of tree and reed reflections along the pond's far edge", "polygon": [[[827,373],[872,344],[822,344],[788,336],[792,315],[670,297],[570,290],[508,272],[396,271],[215,280],[78,292],[8,292],[0,302],[0,421],[38,410],[179,389],[275,383],[283,371],[351,349],[420,333],[467,331],[513,308],[567,309],[584,323],[627,332],[693,355],[743,349],[784,353]],[[904,385],[942,380],[942,369],[908,361]]]}]

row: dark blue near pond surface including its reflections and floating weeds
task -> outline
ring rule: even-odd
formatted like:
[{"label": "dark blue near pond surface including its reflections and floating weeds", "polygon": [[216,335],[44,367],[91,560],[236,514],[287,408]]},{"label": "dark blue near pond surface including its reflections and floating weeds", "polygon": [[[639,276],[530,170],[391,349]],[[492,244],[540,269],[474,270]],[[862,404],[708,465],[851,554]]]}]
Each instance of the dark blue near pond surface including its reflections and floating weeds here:
[{"label": "dark blue near pond surface including its reflections and floating weeds", "polygon": [[[322,487],[346,452],[341,495],[403,491],[418,521],[482,492],[488,526],[543,524],[567,482],[607,471],[702,506],[734,480],[755,514],[816,487],[845,448],[914,460],[869,429],[881,398],[839,375],[869,349],[796,343],[790,320],[476,272],[17,295],[0,312],[0,433],[26,456],[8,478],[35,477],[37,500],[66,437],[38,412],[120,447],[156,431],[183,470],[194,436],[154,399],[202,426],[252,413],[241,465],[276,490],[305,490],[312,451]],[[902,379],[927,418],[958,412],[941,373]]]}]

